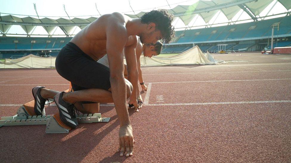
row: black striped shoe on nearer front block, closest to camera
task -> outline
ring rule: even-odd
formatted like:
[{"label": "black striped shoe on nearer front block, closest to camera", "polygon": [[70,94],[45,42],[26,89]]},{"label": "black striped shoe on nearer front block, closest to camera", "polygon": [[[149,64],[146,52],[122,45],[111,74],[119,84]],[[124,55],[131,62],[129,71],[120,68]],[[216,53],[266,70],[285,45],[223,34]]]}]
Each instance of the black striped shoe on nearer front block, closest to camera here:
[{"label": "black striped shoe on nearer front block, closest to camera", "polygon": [[[59,109],[60,120],[68,127],[75,129],[78,126],[74,105],[63,100],[63,93],[54,96],[55,104]],[[60,123],[60,122],[59,122]]]}]

